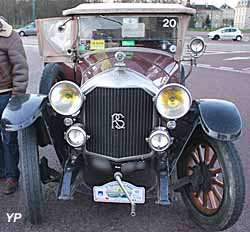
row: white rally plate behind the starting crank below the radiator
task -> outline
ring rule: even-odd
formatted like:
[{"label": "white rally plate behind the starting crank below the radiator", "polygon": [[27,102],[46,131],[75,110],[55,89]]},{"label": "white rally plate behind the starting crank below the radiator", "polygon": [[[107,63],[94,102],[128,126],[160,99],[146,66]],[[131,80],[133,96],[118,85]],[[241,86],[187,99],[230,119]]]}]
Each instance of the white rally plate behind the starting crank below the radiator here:
[{"label": "white rally plate behind the starting crank below the radiator", "polygon": [[[145,203],[145,188],[136,187],[125,181],[122,183],[135,203]],[[109,182],[102,186],[95,186],[93,188],[93,194],[94,201],[96,202],[130,203],[126,194],[116,181]]]}]

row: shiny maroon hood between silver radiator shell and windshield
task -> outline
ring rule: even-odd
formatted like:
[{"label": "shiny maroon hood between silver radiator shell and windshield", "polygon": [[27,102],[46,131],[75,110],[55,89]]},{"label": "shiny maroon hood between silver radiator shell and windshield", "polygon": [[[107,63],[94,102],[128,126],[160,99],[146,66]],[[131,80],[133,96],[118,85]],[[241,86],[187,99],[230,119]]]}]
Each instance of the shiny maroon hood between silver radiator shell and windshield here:
[{"label": "shiny maroon hood between silver radiator shell and windshield", "polygon": [[[119,63],[115,58],[118,51],[126,54],[123,61],[125,67],[140,73],[147,79],[155,81],[167,75],[176,76],[178,68],[174,67],[176,62],[171,54],[154,49],[119,48],[82,56],[79,66],[82,72],[82,83],[99,73],[115,68]],[[179,66],[177,65],[177,67]]]}]

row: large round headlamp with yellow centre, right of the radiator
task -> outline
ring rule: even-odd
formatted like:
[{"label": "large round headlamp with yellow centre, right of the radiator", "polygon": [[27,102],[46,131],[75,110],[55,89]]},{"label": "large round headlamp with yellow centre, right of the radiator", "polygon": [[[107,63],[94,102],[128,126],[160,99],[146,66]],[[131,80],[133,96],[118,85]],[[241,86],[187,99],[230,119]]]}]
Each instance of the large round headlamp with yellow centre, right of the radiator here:
[{"label": "large round headlamp with yellow centre, right of the radiator", "polygon": [[187,88],[180,84],[163,86],[156,96],[156,109],[167,119],[178,119],[190,109],[192,97]]}]

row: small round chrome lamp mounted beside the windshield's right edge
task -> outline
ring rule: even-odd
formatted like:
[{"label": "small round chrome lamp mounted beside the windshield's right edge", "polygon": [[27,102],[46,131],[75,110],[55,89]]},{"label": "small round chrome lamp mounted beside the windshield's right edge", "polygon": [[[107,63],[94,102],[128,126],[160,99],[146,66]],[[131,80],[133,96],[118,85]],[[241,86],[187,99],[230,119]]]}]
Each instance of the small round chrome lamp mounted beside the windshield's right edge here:
[{"label": "small round chrome lamp mounted beside the windshield's right edge", "polygon": [[194,58],[202,56],[206,51],[206,47],[207,45],[202,37],[196,37],[188,44],[190,55]]}]

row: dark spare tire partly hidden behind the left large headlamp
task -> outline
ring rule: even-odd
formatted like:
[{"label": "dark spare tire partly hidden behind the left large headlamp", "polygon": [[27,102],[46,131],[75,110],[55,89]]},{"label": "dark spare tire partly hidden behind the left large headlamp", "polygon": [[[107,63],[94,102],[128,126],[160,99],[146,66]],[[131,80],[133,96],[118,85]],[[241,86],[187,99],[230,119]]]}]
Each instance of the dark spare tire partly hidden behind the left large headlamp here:
[{"label": "dark spare tire partly hidden behind the left large headlamp", "polygon": [[58,81],[65,80],[65,74],[57,63],[47,64],[42,73],[39,85],[39,93],[48,95],[51,87]]}]

